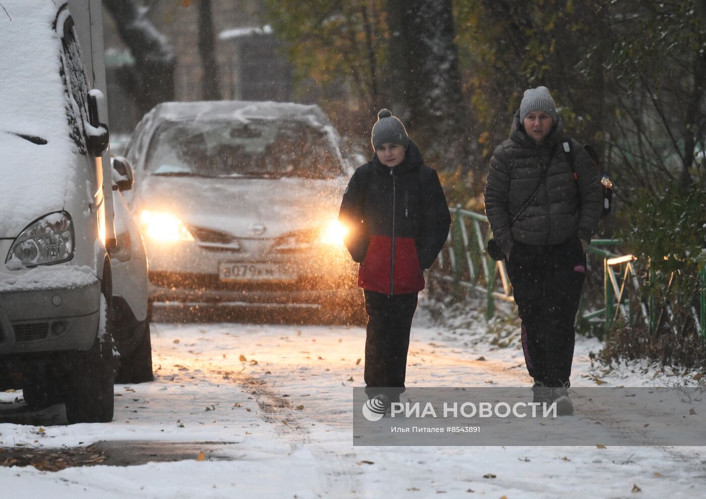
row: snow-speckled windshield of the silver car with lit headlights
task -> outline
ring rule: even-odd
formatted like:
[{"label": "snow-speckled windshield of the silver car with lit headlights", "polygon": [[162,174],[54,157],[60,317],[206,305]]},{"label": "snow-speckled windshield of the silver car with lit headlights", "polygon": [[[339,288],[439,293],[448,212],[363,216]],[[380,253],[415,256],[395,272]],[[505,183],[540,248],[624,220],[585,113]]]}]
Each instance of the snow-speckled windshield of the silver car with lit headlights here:
[{"label": "snow-speckled windshield of the silver car with lit headlights", "polygon": [[325,132],[294,120],[166,121],[150,142],[145,169],[153,175],[233,178],[343,174]]}]

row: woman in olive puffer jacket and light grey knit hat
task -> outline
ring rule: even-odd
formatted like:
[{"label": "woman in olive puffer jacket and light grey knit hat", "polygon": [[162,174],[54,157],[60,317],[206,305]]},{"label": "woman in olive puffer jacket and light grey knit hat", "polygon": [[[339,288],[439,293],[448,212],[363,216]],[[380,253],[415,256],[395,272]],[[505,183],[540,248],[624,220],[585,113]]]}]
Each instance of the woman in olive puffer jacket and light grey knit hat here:
[{"label": "woman in olive puffer jacket and light grey knit hat", "polygon": [[556,402],[560,415],[573,414],[574,320],[601,203],[597,167],[565,135],[549,90],[525,91],[491,158],[486,215],[513,284],[534,402]]}]

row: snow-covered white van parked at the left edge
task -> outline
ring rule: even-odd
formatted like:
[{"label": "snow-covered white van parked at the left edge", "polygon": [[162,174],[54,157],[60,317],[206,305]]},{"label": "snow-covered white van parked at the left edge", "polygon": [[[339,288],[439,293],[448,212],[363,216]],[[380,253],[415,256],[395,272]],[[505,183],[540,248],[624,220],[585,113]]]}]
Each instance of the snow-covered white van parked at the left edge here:
[{"label": "snow-covered white van parked at the left edge", "polygon": [[1,3],[0,380],[20,372],[25,402],[61,399],[70,423],[111,421],[106,107],[65,0]]}]

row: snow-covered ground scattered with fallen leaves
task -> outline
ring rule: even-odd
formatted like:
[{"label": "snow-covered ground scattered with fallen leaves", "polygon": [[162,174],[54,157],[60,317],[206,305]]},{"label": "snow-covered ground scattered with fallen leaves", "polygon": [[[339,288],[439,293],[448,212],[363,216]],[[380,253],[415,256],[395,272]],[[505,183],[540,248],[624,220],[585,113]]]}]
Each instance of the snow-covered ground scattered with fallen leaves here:
[{"label": "snow-covered ground scattered with fallen leaves", "polygon": [[[408,386],[529,385],[516,329],[502,316],[489,324],[473,311],[440,326],[421,308]],[[54,406],[0,423],[0,448],[111,440],[129,455],[131,443],[137,453],[139,443],[164,441],[193,443],[193,457],[57,472],[0,467],[3,491],[56,499],[701,495],[704,447],[354,446],[352,387],[363,385],[364,339],[361,327],[153,323],[157,380],[116,385],[112,423],[64,426],[63,408]],[[578,338],[574,386],[683,384],[684,373],[592,363],[590,352],[599,348],[595,339]],[[0,395],[0,411],[16,409],[8,402],[19,395]],[[18,424],[23,417],[33,424]]]}]

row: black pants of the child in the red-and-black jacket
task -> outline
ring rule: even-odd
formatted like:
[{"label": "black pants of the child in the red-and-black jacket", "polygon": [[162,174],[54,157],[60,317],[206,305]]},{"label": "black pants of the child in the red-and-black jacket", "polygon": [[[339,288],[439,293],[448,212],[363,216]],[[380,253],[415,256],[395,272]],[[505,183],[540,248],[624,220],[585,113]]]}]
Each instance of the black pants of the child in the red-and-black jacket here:
[{"label": "black pants of the child in the red-and-black jacket", "polygon": [[364,294],[368,314],[365,392],[368,397],[384,393],[390,402],[399,402],[400,393],[405,391],[409,330],[417,309],[417,293]]}]

